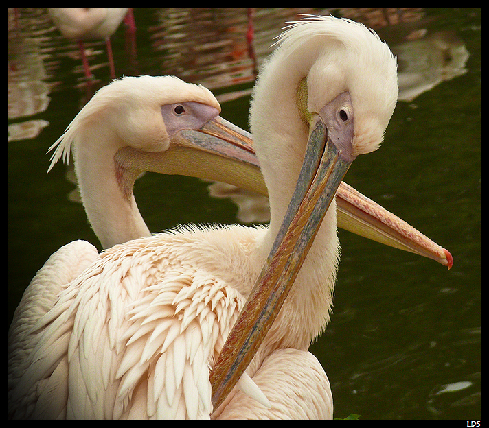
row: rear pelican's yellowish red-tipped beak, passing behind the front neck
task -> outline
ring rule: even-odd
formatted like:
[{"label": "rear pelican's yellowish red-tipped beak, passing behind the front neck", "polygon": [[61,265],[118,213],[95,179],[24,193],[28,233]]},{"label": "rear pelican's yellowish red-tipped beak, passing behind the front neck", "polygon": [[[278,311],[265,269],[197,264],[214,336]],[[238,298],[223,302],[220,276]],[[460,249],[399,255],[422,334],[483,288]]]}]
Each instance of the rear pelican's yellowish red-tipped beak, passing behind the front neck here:
[{"label": "rear pelican's yellowish red-tipped beak, passing behind the front neck", "polygon": [[[121,165],[133,166],[133,180],[141,171],[153,171],[227,182],[268,195],[251,134],[219,116],[198,130],[178,132],[165,152],[124,147],[117,156],[125,158]],[[337,222],[339,228],[429,257],[448,269],[453,263],[447,250],[345,182],[337,190]]]}]

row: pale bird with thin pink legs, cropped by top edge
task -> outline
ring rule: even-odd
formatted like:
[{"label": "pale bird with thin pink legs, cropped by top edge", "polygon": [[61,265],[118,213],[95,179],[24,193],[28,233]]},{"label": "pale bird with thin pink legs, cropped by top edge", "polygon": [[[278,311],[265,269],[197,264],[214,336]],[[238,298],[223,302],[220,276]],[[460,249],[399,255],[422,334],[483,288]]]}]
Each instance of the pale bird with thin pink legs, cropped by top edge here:
[{"label": "pale bird with thin pink legs, cropped by top edge", "polygon": [[[83,70],[89,79],[92,78],[92,73],[85,55],[83,40],[92,38],[105,40],[111,79],[115,79],[111,36],[122,23],[128,10],[127,8],[51,8],[48,12],[60,33],[78,42]],[[133,21],[132,12],[130,19]]]}]

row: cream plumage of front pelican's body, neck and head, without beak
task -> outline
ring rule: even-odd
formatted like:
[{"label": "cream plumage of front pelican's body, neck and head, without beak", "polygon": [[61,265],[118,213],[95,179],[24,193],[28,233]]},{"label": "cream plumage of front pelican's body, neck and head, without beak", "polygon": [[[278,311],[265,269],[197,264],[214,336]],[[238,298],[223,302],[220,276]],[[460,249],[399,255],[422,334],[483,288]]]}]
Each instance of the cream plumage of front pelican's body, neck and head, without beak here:
[{"label": "cream plumage of front pelican's body, neck and head, without beak", "polygon": [[[216,410],[215,418],[332,417],[328,378],[308,346],[326,328],[332,306],[339,262],[334,202],[247,370],[266,399],[243,377],[242,389],[255,399],[234,390],[219,409],[210,401],[209,370],[260,274],[301,169],[308,123],[297,105],[300,82],[306,78],[308,112],[351,94],[355,154],[378,147],[396,103],[395,58],[363,25],[311,17],[288,29],[279,45],[258,80],[250,116],[271,200],[269,228],[181,228],[101,254],[80,241],[58,250],[12,322],[12,416],[209,418]],[[46,283],[59,257],[73,250],[87,254],[84,263]]]}]

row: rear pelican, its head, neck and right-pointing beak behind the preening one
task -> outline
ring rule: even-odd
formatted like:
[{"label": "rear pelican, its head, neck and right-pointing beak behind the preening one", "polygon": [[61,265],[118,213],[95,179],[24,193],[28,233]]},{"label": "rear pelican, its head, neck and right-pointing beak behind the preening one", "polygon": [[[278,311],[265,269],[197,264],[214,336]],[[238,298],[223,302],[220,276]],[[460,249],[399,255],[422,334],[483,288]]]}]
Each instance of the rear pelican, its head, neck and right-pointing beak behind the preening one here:
[{"label": "rear pelican, its head, neck and right-pointing beak behind the preening one", "polygon": [[[159,88],[156,96],[154,88]],[[60,159],[68,162],[73,148],[82,202],[103,248],[150,236],[132,193],[135,178],[143,171],[219,180],[268,195],[251,134],[220,117],[202,130],[209,136],[183,132],[191,141],[176,134],[161,147],[150,141],[144,128],[154,127],[161,120],[154,114],[157,106],[190,99],[220,110],[212,93],[178,78],[122,78],[100,89],[49,148],[56,150],[48,171]],[[146,115],[148,110],[153,114]],[[140,126],[127,132],[124,123],[133,121],[139,121]],[[221,136],[231,144],[216,144],[212,135],[219,132],[225,132]],[[129,136],[134,134],[142,141],[131,140]],[[345,182],[337,191],[337,206],[340,228],[446,264],[440,246]]]}]

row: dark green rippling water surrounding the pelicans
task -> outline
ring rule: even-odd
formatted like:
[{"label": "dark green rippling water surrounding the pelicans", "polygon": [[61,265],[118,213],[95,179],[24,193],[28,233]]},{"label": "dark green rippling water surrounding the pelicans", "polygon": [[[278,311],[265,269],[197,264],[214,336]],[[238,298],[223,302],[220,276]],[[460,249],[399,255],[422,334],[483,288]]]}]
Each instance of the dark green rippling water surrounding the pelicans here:
[{"label": "dark green rippling water surrounding the pelicans", "polygon": [[[256,11],[259,63],[295,12]],[[358,11],[335,12],[341,14],[359,19]],[[125,49],[123,28],[113,39],[117,75],[177,74],[216,94],[253,85],[246,10],[136,10],[135,18],[137,58]],[[402,20],[374,27],[399,55],[407,50],[416,58],[407,39],[439,37],[463,46],[468,58],[452,77],[445,69],[423,71],[424,80],[441,77],[398,102],[380,150],[356,160],[345,181],[447,248],[454,265],[446,272],[434,261],[340,230],[332,321],[311,351],[328,373],[337,417],[479,419],[480,10],[417,10]],[[212,47],[205,45],[209,38]],[[419,56],[435,50],[427,46]],[[67,168],[46,174],[47,148],[109,82],[104,43],[89,49],[97,78],[90,88],[76,45],[60,37],[45,11],[20,10],[16,23],[9,19],[9,135],[23,129],[8,144],[9,324],[50,254],[75,239],[100,248],[81,204],[68,198],[75,186]],[[449,49],[443,55],[453,59]],[[223,117],[246,126],[249,97],[222,107]],[[42,130],[27,137],[27,125]],[[209,198],[207,183],[194,178],[146,174],[135,196],[153,232],[179,223],[236,222],[236,206]]]}]

